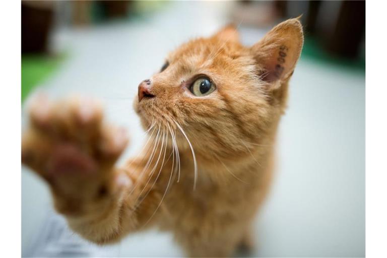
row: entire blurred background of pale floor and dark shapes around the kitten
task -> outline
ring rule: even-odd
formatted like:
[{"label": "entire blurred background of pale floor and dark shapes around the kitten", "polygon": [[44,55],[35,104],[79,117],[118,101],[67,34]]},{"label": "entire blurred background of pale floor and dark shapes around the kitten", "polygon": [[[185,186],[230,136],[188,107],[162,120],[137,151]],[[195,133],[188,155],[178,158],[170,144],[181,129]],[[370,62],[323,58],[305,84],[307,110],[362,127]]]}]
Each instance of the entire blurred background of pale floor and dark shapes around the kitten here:
[{"label": "entire blurred background of pale floor and dark shapes around the kitten", "polygon": [[[302,14],[305,43],[290,82],[271,195],[254,225],[251,256],[365,255],[365,2],[22,1],[22,125],[38,92],[92,95],[108,119],[144,139],[137,85],[168,51],[232,22],[252,45]],[[52,210],[44,182],[22,170],[22,256],[182,256],[156,230],[96,246]]]}]

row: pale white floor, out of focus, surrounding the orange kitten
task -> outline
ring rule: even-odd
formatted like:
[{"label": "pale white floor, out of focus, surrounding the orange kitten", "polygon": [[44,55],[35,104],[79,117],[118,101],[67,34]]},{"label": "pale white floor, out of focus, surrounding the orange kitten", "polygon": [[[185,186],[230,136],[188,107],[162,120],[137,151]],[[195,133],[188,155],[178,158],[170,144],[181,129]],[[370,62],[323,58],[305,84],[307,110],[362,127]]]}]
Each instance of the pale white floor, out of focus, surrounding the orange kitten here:
[{"label": "pale white floor, out of focus, surrounding the orange kitten", "polygon": [[[127,125],[132,134],[127,157],[142,142],[132,109],[138,83],[161,67],[168,50],[189,38],[208,36],[225,24],[226,10],[225,4],[175,3],[141,22],[60,30],[54,44],[67,49],[69,57],[40,90],[53,96],[78,92],[102,99],[108,118]],[[241,32],[247,44],[263,34]],[[365,255],[364,86],[363,72],[301,58],[281,122],[277,177],[256,220],[257,248],[252,256]],[[53,228],[48,223],[63,223],[61,217],[53,217],[50,202],[45,184],[23,168],[23,256],[59,253],[41,246],[40,236]],[[103,248],[85,244],[71,233],[59,234],[87,246],[90,255],[183,255],[170,235],[157,231],[131,235]]]}]

